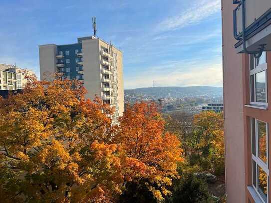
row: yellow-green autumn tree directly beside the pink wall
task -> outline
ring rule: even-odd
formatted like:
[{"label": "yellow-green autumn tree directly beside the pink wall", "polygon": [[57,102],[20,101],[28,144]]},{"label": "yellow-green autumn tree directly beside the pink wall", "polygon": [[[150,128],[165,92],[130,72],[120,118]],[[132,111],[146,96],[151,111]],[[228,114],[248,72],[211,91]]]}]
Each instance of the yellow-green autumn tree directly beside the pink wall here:
[{"label": "yellow-green autumn tree directly beside the pink wall", "polygon": [[[224,123],[223,114],[204,111],[194,116],[191,145],[192,161],[205,170],[224,173]],[[193,160],[194,159],[194,160]]]}]

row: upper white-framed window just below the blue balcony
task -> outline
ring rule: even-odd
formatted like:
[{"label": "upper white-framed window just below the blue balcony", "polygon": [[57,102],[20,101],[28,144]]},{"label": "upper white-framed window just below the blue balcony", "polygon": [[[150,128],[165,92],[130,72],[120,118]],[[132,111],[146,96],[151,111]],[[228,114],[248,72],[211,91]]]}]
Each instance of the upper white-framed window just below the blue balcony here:
[{"label": "upper white-framed window just below the blue balcony", "polygon": [[267,54],[263,52],[259,64],[251,55],[250,58],[250,97],[251,104],[267,105]]}]

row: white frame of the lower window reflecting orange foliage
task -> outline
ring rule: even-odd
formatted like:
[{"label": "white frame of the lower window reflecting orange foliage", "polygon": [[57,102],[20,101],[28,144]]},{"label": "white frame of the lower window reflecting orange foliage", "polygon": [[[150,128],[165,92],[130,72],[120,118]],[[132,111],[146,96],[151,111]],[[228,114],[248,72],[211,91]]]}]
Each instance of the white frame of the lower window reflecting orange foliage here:
[{"label": "white frame of the lower window reflecting orange foliage", "polygon": [[[269,130],[268,130],[268,123],[265,121],[261,121],[259,119],[256,118],[251,118],[251,140],[253,140],[253,131],[252,131],[252,119],[255,119],[255,151],[256,151],[256,156],[253,154],[252,152],[252,142],[251,142],[251,154],[252,154],[252,186],[255,189],[256,193],[258,194],[258,196],[261,198],[261,200],[263,201],[263,203],[269,203]],[[258,121],[263,122],[266,124],[266,132],[267,132],[267,163],[265,163],[260,157],[259,157],[259,135],[258,135]],[[253,161],[255,161],[256,163],[256,174],[253,174]],[[261,196],[261,194],[258,191],[258,166],[261,167],[263,169],[263,171],[267,174],[267,202],[265,202],[265,200],[263,199],[263,197]],[[256,175],[256,187],[253,184],[253,177]]]}]

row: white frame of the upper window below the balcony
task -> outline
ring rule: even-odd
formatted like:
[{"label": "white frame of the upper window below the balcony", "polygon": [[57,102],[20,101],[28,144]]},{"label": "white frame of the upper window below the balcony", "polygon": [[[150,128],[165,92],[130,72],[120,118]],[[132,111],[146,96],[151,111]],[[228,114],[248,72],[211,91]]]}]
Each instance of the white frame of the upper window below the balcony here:
[{"label": "white frame of the upper window below the balcony", "polygon": [[[262,105],[262,106],[268,106],[268,77],[267,77],[267,52],[264,52],[265,53],[265,57],[266,57],[266,62],[265,63],[262,63],[262,64],[259,64],[257,66],[256,64],[256,59],[254,58],[253,59],[253,62],[254,64],[251,64],[251,59],[250,59],[250,103],[251,104],[254,104],[254,105]],[[253,55],[250,55],[250,57],[254,57]],[[253,69],[251,70],[251,66],[253,65]],[[257,102],[257,95],[256,95],[256,74],[257,73],[260,73],[260,72],[263,72],[265,71],[265,75],[266,75],[266,102]],[[251,76],[254,75],[254,101],[252,101],[252,98],[251,98],[251,91],[252,91],[252,88],[251,88]]]}]

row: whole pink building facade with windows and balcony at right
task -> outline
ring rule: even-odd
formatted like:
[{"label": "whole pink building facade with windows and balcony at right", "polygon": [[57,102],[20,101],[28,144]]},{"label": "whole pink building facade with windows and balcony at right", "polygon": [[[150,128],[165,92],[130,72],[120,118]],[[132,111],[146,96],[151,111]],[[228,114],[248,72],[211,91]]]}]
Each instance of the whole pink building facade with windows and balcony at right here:
[{"label": "whole pink building facade with windows and balcony at right", "polygon": [[271,0],[222,0],[228,203],[271,201]]}]

